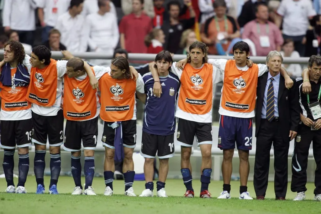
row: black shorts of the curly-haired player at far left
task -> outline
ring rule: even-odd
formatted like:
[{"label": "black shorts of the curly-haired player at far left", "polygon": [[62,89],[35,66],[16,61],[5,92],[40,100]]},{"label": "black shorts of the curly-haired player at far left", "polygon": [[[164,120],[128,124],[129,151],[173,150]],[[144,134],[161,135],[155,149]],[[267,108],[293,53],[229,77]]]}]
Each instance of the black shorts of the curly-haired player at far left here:
[{"label": "black shorts of the curly-haired player at far left", "polygon": [[26,120],[1,120],[0,121],[0,146],[4,149],[14,149],[31,146],[32,119]]}]

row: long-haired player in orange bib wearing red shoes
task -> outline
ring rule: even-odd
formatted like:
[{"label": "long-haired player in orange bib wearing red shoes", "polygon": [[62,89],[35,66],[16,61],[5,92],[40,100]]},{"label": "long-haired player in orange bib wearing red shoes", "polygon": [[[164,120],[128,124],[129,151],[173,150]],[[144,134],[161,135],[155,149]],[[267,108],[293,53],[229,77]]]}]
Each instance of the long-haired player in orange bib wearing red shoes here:
[{"label": "long-haired player in orange bib wearing red shoes", "polygon": [[[186,186],[185,197],[194,197],[190,156],[196,136],[202,154],[200,198],[210,198],[213,85],[222,79],[220,70],[207,63],[208,47],[203,42],[193,42],[189,50],[184,70],[176,68],[175,62],[171,66],[171,72],[181,81],[175,113],[178,117],[177,140],[181,145],[181,173]],[[159,75],[156,71],[152,71],[152,75],[155,80],[153,92],[159,96]]]}]

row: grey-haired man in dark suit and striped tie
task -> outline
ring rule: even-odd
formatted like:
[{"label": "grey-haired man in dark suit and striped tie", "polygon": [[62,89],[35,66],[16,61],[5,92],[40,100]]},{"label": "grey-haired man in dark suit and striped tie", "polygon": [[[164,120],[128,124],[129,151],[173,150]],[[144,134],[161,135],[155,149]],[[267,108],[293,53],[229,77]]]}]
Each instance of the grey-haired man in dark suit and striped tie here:
[{"label": "grey-haired man in dark suit and striped tie", "polygon": [[267,189],[272,143],[275,199],[285,200],[289,146],[300,121],[298,85],[294,81],[291,89],[284,87],[284,78],[280,75],[282,62],[279,52],[270,51],[266,57],[269,72],[260,76],[257,82],[254,189],[258,200],[264,200]]}]

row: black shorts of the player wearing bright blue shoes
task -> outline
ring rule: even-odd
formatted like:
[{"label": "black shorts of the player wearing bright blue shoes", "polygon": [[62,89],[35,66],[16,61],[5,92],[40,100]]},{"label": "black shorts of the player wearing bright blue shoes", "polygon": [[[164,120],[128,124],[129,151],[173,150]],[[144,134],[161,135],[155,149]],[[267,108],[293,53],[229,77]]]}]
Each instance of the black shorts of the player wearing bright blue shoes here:
[{"label": "black shorts of the player wearing bright blue shoes", "polygon": [[32,112],[32,142],[61,146],[64,142],[64,114],[60,109],[56,116],[42,116]]}]

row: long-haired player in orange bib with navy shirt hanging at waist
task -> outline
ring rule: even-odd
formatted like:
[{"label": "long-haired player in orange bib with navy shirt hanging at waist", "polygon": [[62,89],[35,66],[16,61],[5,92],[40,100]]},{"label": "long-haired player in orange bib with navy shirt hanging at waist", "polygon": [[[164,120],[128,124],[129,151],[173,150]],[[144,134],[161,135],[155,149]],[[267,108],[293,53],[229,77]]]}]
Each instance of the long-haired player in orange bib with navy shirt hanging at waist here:
[{"label": "long-haired player in orange bib with navy shirt hanging at waist", "polygon": [[116,161],[124,159],[123,172],[125,195],[136,196],[133,189],[133,151],[136,145],[136,105],[135,91],[144,93],[144,83],[139,75],[134,81],[130,78],[128,61],[117,56],[111,61],[110,73],[99,80],[101,91],[100,118],[104,121],[102,143],[105,146],[104,195],[113,194],[113,178]]}]

